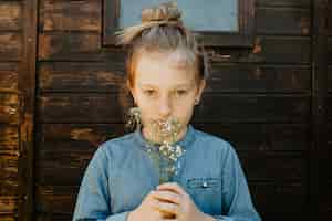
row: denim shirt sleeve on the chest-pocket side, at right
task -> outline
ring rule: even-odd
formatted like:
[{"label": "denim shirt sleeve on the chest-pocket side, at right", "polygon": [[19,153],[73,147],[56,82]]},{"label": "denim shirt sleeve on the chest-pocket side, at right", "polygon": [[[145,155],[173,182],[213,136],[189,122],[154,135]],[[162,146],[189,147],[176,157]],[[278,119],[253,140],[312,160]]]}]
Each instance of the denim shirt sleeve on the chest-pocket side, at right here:
[{"label": "denim shirt sleeve on the chest-pocket side, at right", "polygon": [[261,221],[256,211],[245,172],[235,149],[227,143],[227,154],[222,166],[222,202],[225,215],[216,217],[225,221]]}]

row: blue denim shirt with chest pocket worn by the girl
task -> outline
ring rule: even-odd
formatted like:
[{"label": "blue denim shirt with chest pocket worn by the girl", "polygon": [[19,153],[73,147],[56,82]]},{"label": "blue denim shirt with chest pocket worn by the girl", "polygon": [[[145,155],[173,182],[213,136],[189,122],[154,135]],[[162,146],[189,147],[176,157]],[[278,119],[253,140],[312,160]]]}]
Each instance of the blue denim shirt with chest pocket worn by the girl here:
[{"label": "blue denim shirt with chest pocket worn by the girl", "polygon": [[[84,173],[73,221],[126,220],[159,182],[147,144],[136,130],[101,145]],[[186,151],[178,158],[180,167],[173,181],[190,194],[203,212],[216,220],[261,220],[229,143],[189,125],[177,145]]]}]

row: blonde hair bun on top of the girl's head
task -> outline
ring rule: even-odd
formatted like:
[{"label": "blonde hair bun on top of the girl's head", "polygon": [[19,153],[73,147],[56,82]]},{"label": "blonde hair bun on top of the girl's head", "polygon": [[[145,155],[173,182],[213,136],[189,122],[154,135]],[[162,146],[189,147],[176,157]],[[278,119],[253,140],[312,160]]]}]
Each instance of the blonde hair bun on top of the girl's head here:
[{"label": "blonde hair bun on top of the girl's head", "polygon": [[181,22],[181,11],[176,2],[162,3],[158,7],[146,8],[142,10],[142,22],[149,21],[177,21]]}]

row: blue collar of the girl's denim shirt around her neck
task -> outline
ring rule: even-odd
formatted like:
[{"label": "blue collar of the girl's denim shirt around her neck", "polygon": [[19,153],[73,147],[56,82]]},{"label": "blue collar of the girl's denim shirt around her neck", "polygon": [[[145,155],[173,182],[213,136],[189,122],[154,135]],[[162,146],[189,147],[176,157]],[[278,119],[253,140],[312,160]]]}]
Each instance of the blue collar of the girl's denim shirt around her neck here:
[{"label": "blue collar of the girl's denim shirt around her neck", "polygon": [[[151,147],[151,143],[148,143],[145,137],[143,136],[142,134],[142,130],[141,129],[136,129],[134,131],[134,138],[135,138],[135,141],[137,141],[139,144],[139,147],[142,148],[147,148],[147,147]],[[187,131],[186,131],[186,135],[178,141],[176,141],[174,145],[175,146],[180,146],[183,149],[188,149],[193,141],[195,140],[195,129],[194,127],[189,124],[188,127],[187,127]],[[157,147],[157,146],[156,146]]]}]

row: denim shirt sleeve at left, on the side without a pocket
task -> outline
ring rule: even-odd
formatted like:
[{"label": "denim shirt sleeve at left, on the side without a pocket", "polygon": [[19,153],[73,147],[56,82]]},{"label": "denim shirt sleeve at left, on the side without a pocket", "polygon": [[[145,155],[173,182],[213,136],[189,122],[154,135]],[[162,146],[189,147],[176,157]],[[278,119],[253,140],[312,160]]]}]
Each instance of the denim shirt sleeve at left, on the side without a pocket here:
[{"label": "denim shirt sleeve at left, on the side without a pocket", "polygon": [[111,214],[108,192],[110,159],[101,146],[83,176],[73,221],[126,221],[128,211]]}]

